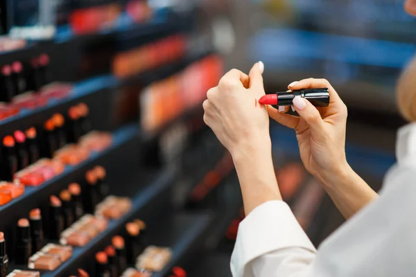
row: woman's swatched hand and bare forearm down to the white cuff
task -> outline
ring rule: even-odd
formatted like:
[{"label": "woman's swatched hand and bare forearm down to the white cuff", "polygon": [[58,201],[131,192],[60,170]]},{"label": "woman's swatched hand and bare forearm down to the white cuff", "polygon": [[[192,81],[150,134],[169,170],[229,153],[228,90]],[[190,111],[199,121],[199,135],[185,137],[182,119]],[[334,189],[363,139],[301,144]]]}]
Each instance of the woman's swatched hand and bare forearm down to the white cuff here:
[{"label": "woman's swatched hand and bare forearm down to the white cuff", "polygon": [[245,214],[272,200],[281,200],[272,162],[269,118],[258,103],[263,96],[263,63],[250,74],[233,69],[209,89],[205,123],[232,154],[239,175]]}]

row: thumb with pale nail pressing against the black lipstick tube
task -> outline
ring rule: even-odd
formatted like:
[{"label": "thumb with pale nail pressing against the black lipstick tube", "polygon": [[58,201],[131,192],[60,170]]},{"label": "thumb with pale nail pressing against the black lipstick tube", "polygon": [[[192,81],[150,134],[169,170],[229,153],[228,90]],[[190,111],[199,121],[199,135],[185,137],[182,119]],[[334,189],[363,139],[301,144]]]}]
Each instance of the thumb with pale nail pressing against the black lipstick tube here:
[{"label": "thumb with pale nail pressing against the black lipstick tube", "polygon": [[311,102],[299,96],[293,98],[293,106],[297,114],[309,125],[309,128],[320,134],[324,128],[324,120],[322,120],[318,109]]}]

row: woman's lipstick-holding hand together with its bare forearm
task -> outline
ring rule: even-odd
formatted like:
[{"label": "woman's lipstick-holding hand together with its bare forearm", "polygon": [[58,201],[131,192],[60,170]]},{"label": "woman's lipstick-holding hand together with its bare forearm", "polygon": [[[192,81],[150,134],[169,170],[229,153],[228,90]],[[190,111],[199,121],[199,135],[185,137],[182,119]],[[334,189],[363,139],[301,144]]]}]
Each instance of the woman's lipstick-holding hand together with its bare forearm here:
[{"label": "woman's lipstick-holding hand together with its bare forearm", "polygon": [[327,80],[310,78],[288,86],[291,90],[324,87],[329,89],[329,107],[316,108],[304,98],[295,98],[293,105],[300,117],[280,114],[273,107],[268,107],[268,114],[282,125],[295,129],[306,170],[324,185],[348,219],[376,199],[377,194],[347,163],[347,107]]}]

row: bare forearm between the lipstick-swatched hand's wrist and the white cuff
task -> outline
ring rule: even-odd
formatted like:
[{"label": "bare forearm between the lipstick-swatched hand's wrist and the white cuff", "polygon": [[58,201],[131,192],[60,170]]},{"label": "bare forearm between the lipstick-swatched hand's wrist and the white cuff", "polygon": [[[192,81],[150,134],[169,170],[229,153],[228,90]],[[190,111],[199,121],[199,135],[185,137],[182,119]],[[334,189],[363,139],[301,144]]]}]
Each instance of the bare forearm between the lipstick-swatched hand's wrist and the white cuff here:
[{"label": "bare forearm between the lipstick-swatched hand's wrist and the white cuff", "polygon": [[270,139],[239,148],[232,157],[239,176],[245,215],[263,203],[281,200]]}]

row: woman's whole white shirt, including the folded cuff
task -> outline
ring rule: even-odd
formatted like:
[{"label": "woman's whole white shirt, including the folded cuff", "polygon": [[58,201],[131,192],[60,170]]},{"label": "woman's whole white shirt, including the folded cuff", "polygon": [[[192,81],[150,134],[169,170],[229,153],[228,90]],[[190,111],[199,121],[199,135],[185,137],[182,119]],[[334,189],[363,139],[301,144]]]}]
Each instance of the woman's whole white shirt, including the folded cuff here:
[{"label": "woman's whole white shirt, including the folded cuff", "polygon": [[255,208],[239,226],[234,277],[416,276],[416,123],[399,129],[397,163],[380,197],[318,251],[285,202]]}]

